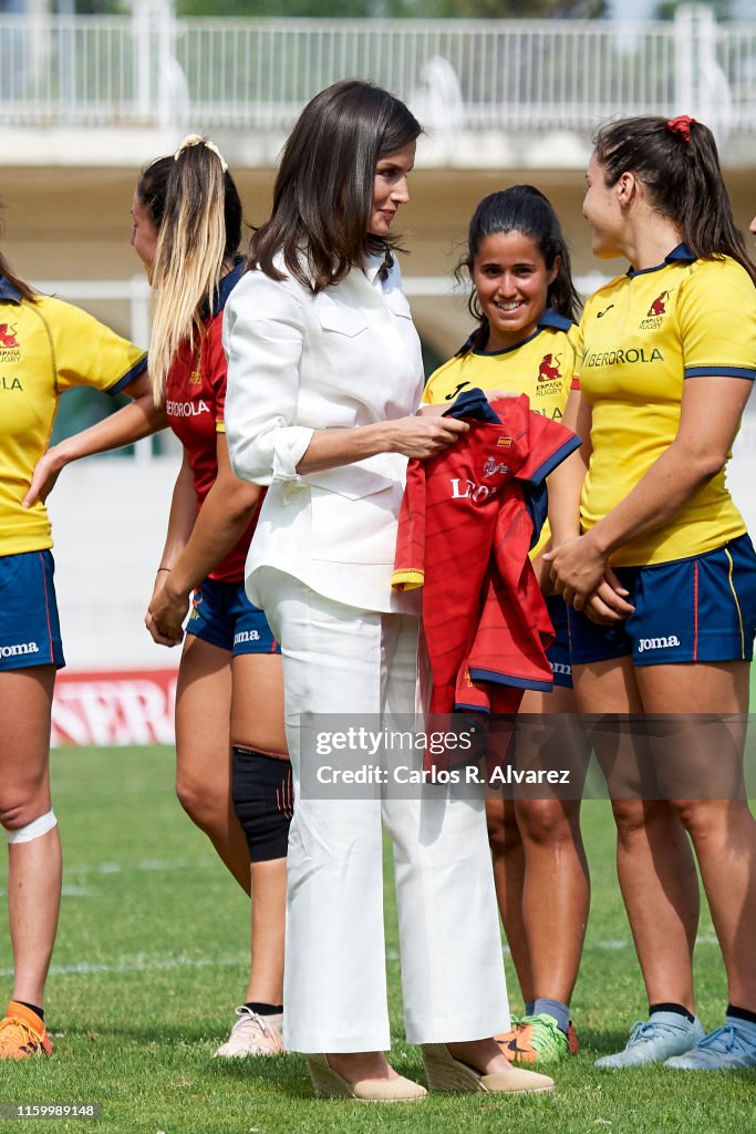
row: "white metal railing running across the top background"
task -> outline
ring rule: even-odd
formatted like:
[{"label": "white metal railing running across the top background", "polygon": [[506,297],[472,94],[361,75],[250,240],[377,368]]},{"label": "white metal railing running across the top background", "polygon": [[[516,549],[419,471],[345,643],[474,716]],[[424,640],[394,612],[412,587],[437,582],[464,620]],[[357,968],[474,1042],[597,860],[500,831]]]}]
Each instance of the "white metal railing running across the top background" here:
[{"label": "white metal railing running across the top background", "polygon": [[592,129],[686,110],[756,130],[756,20],[673,23],[0,17],[2,125],[287,129],[338,78],[447,130]]}]

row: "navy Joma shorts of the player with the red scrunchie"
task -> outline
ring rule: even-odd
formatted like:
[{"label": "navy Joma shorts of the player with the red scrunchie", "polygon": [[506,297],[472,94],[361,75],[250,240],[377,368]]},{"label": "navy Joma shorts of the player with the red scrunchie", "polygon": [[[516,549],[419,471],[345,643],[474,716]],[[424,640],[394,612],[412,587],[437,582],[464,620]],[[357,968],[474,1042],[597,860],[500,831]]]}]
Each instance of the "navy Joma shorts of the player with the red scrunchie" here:
[{"label": "navy Joma shorts of the player with the red scrunchie", "polygon": [[690,559],[615,573],[635,611],[600,626],[570,608],[574,666],[628,657],[634,666],[751,660],[756,552],[748,535]]}]

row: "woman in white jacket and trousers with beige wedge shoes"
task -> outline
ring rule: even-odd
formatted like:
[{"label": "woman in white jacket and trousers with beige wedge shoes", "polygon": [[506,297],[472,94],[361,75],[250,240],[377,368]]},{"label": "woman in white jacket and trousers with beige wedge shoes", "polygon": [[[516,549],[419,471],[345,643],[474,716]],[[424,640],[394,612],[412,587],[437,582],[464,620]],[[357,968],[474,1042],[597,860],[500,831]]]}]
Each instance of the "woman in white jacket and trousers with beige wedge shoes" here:
[{"label": "woman in white jacket and trousers with beige wedge shoes", "polygon": [[385,1101],[426,1092],[383,1055],[381,813],[394,844],[407,1036],[424,1044],[431,1086],[553,1089],[511,1068],[492,1039],[508,1013],[483,801],[299,790],[323,762],[304,714],[346,714],[348,727],[415,711],[418,620],[390,585],[406,463],[467,430],[415,416],[421,348],[391,225],[419,133],[367,83],[313,99],[224,318],[231,463],[269,485],[247,593],[281,642],[295,770],[284,1044],[307,1053],[318,1094]]}]

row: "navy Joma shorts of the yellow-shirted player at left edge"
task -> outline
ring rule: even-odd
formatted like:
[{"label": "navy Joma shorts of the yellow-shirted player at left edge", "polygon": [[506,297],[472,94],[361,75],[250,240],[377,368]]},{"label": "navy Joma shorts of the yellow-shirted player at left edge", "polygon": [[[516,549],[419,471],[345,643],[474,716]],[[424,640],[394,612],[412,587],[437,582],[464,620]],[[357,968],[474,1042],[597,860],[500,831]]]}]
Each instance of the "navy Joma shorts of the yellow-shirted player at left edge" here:
[{"label": "navy Joma shorts of the yellow-shirted player at left edge", "polygon": [[0,556],[0,669],[65,666],[50,551]]}]

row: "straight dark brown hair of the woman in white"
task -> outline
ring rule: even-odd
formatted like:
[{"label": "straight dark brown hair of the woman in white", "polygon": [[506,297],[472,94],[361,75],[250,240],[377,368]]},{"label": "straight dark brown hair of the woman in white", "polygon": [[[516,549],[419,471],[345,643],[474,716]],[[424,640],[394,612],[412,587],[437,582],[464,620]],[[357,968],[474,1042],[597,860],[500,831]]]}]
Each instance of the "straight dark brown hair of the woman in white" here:
[{"label": "straight dark brown hair of the woman in white", "polygon": [[247,266],[282,279],[273,264],[282,253],[287,271],[317,293],[368,252],[385,252],[390,265],[396,238],[367,232],[375,167],[422,133],[404,102],[372,83],[345,79],[316,94],[283,147],[273,211],[252,238]]}]

